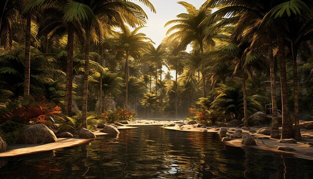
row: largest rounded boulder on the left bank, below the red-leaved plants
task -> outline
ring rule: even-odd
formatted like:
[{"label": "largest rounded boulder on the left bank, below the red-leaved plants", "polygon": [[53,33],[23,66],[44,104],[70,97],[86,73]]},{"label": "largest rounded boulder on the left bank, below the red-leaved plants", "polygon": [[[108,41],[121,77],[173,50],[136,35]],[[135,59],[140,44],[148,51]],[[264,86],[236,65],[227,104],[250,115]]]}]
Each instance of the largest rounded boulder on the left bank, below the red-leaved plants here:
[{"label": "largest rounded boulder on the left bank, below the red-leaved plants", "polygon": [[44,124],[26,125],[19,133],[18,140],[23,144],[56,142],[54,132]]}]

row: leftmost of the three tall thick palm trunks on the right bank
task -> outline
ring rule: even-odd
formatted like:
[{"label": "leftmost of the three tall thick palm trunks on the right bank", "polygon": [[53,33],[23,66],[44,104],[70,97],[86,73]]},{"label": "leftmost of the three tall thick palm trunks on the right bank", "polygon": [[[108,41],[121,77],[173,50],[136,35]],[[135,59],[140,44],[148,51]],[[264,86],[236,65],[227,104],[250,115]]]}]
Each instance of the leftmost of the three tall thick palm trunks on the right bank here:
[{"label": "leftmost of the three tall thick palm trunks on the right bank", "polygon": [[277,100],[276,100],[276,79],[273,57],[273,44],[270,28],[267,31],[268,36],[268,63],[270,73],[270,91],[271,91],[271,131],[270,137],[279,138],[278,119],[277,119]]}]

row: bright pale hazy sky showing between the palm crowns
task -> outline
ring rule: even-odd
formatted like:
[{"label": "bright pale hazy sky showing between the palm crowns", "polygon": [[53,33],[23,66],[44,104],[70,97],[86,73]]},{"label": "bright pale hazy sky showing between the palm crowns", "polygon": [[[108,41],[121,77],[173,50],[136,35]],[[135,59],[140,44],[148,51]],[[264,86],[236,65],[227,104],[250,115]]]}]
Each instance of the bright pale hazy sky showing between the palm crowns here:
[{"label": "bright pale hazy sky showing between the palm crowns", "polygon": [[[140,32],[143,32],[148,37],[150,37],[152,41],[156,43],[157,46],[162,41],[163,37],[165,37],[166,31],[170,27],[169,25],[164,28],[164,24],[169,20],[176,19],[177,14],[186,12],[186,10],[182,5],[177,3],[177,1],[179,0],[149,0],[149,1],[154,5],[154,8],[156,9],[156,14],[152,13],[148,8],[140,4],[140,6],[144,8],[149,18],[147,24],[145,25],[147,27],[142,28]],[[191,3],[196,8],[199,8],[200,5],[205,2],[205,0],[183,0],[183,1]]]}]

